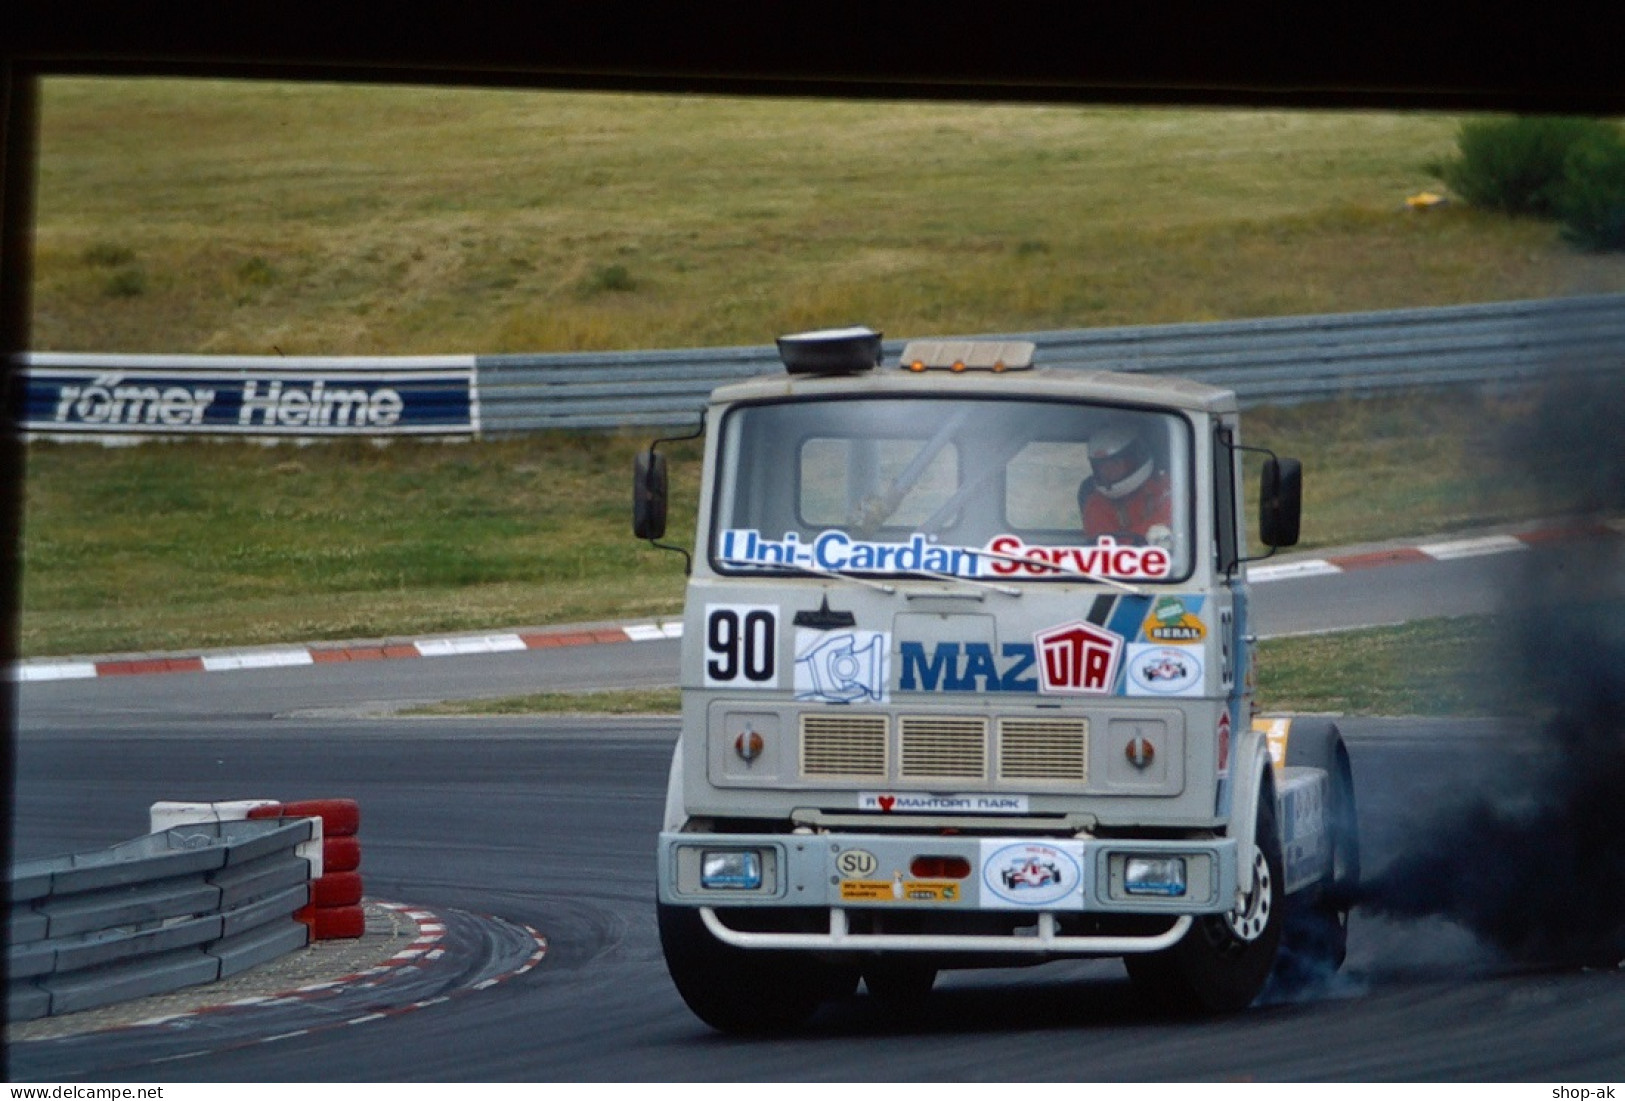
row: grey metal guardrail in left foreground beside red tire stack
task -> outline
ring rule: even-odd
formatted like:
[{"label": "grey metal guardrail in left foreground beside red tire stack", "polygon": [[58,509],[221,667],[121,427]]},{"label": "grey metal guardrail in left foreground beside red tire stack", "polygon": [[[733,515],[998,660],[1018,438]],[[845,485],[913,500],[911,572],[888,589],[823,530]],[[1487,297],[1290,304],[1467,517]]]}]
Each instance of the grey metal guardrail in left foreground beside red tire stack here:
[{"label": "grey metal guardrail in left foreground beside red tire stack", "polygon": [[11,867],[6,1020],[213,982],[302,948],[310,818],[208,822]]}]

